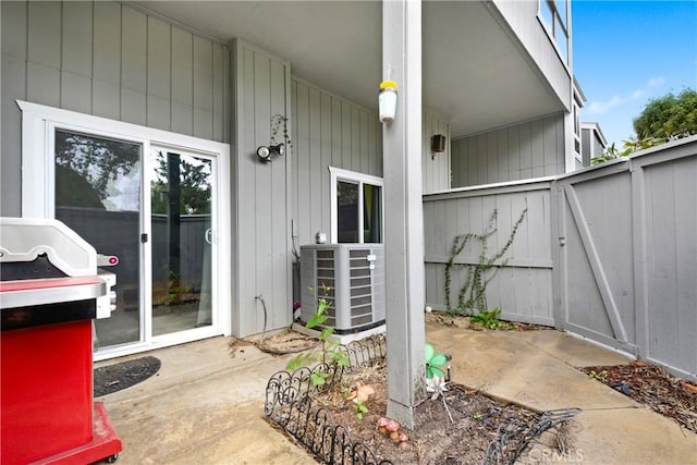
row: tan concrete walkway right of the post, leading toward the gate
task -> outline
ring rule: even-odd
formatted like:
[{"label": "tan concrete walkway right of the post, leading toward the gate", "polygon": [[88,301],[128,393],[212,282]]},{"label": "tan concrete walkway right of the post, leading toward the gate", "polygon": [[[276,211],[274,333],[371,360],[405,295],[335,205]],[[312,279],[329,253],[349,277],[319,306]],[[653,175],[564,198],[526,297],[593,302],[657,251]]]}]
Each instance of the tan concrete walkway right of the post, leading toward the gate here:
[{"label": "tan concrete walkway right of the post, leading toward the gate", "polygon": [[623,355],[554,331],[463,331],[428,325],[427,340],[453,355],[453,380],[530,408],[577,407],[566,456],[526,463],[697,464],[697,435],[575,367],[626,364]]}]

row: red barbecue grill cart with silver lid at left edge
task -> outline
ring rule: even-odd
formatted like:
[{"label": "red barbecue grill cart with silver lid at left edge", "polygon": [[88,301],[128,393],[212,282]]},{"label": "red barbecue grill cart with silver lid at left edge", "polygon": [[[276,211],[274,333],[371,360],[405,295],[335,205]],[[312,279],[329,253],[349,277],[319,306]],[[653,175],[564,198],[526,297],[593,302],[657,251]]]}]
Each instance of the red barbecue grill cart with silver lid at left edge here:
[{"label": "red barbecue grill cart with silver lid at left edge", "polygon": [[122,450],[93,397],[93,319],[111,273],[56,220],[0,218],[0,463],[88,464]]}]

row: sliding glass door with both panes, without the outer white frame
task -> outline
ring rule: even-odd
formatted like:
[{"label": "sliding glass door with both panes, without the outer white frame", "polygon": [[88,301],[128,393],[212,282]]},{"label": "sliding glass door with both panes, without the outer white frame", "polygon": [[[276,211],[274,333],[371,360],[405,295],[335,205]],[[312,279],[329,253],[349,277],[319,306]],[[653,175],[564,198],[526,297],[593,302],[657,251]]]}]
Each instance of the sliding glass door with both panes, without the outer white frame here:
[{"label": "sliding glass door with both panes, without the outer white frame", "polygon": [[65,129],[56,129],[53,143],[56,218],[120,259],[109,269],[117,308],[96,320],[99,348],[220,332],[217,158]]}]

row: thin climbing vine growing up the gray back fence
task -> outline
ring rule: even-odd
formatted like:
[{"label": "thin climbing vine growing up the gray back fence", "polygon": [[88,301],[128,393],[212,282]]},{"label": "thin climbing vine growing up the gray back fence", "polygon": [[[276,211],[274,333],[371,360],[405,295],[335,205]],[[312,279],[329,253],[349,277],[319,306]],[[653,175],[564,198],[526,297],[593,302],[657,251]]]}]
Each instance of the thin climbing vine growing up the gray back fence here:
[{"label": "thin climbing vine growing up the gray back fence", "polygon": [[[464,314],[472,315],[474,309],[486,309],[487,308],[487,284],[489,281],[493,279],[497,274],[498,270],[501,267],[505,267],[508,264],[508,259],[502,260],[497,264],[498,260],[503,257],[503,255],[508,252],[508,249],[513,244],[513,240],[515,238],[515,233],[517,232],[521,223],[525,219],[527,215],[527,208],[525,208],[517,221],[513,224],[511,230],[511,234],[509,235],[508,242],[501,247],[499,252],[488,257],[488,241],[493,234],[497,233],[498,229],[494,227],[497,222],[497,217],[499,212],[494,208],[491,216],[489,217],[489,223],[487,229],[482,234],[476,233],[464,233],[458,234],[453,240],[453,246],[450,249],[450,257],[448,262],[445,264],[445,306],[448,313],[451,315],[455,314]],[[478,257],[477,264],[455,264],[455,258],[462,253],[468,242],[470,241],[479,241],[481,243],[481,252]],[[464,267],[467,269],[467,278],[465,283],[460,289],[457,293],[457,306],[453,307],[451,302],[451,283],[452,283],[452,270],[455,267]],[[489,276],[490,270],[493,270]]]}]

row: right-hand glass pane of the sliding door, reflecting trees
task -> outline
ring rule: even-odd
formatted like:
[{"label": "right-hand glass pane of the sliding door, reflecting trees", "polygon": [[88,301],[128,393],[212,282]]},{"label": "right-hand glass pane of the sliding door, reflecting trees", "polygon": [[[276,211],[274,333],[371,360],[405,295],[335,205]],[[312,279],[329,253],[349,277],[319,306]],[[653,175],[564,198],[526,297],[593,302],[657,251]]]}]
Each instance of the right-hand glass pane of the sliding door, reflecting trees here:
[{"label": "right-hand glass pane of the sliding door, reflecting trees", "polygon": [[212,325],[212,161],[150,151],[152,335]]}]

